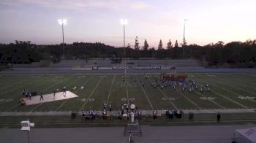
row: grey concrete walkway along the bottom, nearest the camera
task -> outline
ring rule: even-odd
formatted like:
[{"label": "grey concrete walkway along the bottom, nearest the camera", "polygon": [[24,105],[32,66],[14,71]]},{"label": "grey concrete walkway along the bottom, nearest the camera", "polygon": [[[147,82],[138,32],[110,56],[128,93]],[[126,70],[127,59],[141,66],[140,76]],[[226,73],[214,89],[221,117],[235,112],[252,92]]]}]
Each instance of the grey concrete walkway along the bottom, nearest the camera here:
[{"label": "grey concrete walkway along the bottom, nearest the camera", "polygon": [[[37,125],[35,125],[37,126]],[[141,125],[143,136],[135,136],[135,142],[172,143],[231,143],[238,128],[255,125],[192,125],[154,127]],[[20,128],[0,128],[0,142],[26,143],[27,133]],[[127,142],[124,128],[31,128],[30,142],[33,143],[84,143],[84,142]]]}]

